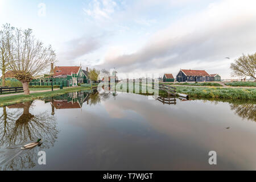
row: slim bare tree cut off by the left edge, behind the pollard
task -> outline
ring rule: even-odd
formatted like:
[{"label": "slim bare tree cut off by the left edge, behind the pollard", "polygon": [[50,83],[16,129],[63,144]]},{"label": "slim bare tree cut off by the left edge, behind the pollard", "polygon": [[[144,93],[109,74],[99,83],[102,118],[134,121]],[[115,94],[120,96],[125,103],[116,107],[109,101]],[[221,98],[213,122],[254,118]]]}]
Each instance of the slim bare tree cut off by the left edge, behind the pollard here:
[{"label": "slim bare tree cut off by the left edge, behind the pollard", "polygon": [[13,52],[14,27],[4,24],[0,30],[0,69],[2,71],[2,86],[5,86],[5,72],[9,69],[9,52]]}]

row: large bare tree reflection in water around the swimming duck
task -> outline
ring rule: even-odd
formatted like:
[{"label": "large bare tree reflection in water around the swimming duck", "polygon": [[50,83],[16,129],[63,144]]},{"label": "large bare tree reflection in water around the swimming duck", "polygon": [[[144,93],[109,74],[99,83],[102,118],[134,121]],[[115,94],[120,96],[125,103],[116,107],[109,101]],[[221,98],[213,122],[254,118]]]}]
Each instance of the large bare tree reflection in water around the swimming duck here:
[{"label": "large bare tree reflection in water around the swimming duck", "polygon": [[[38,152],[54,145],[59,131],[56,119],[51,111],[43,111],[35,115],[30,113],[32,102],[24,102],[8,106],[0,117],[0,169],[16,170],[32,168],[38,160]],[[20,110],[20,108],[23,109]],[[41,138],[40,147],[31,150],[21,150],[26,143]]]}]

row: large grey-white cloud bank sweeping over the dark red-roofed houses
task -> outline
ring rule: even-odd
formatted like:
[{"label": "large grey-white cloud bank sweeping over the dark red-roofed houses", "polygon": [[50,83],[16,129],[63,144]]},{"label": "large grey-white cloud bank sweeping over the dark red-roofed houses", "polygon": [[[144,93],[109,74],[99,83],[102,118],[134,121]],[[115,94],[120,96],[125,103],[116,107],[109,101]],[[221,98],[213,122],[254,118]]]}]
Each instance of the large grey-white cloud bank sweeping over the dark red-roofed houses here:
[{"label": "large grey-white cloud bank sweeping over the dark red-roofed houses", "polygon": [[[116,67],[122,72],[160,71],[184,63],[192,68],[191,64],[196,62],[198,67],[204,63],[205,69],[210,69],[208,63],[221,64],[224,57],[255,52],[255,7],[253,0],[211,3],[207,9],[177,19],[168,28],[156,32],[137,52],[115,59],[105,57],[101,66]],[[228,77],[226,73],[221,74]]]}]

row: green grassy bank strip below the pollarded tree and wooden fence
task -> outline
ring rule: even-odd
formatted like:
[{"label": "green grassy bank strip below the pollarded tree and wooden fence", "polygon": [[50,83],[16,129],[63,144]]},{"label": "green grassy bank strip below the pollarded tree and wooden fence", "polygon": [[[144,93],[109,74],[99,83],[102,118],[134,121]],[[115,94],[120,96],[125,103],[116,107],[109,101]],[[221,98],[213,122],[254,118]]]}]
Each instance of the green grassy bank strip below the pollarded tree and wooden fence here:
[{"label": "green grassy bank strip below the pollarded tree and wooden fence", "polygon": [[40,93],[31,93],[29,96],[22,94],[22,95],[16,95],[16,96],[0,97],[0,106],[18,104],[20,102],[32,101],[32,100],[36,100],[43,97],[60,96],[62,94],[69,93],[69,92],[78,92],[81,90],[89,90],[89,89],[90,88],[76,87],[76,88],[68,88],[68,89],[62,89],[62,90],[54,90],[53,92],[48,91],[48,92],[40,92]]}]

